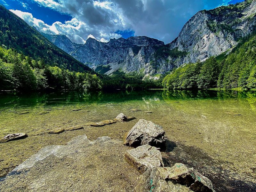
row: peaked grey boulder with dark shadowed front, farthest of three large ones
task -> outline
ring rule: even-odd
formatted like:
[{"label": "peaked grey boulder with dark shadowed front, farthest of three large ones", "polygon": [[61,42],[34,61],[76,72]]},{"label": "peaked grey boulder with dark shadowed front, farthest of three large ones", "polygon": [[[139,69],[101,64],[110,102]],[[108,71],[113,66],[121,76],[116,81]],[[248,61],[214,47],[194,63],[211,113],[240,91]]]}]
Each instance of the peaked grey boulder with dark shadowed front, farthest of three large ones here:
[{"label": "peaked grey boulder with dark shadowed front, farthest of three large ones", "polygon": [[124,145],[137,147],[146,144],[164,149],[166,145],[164,130],[160,125],[140,119],[127,135],[124,135]]}]

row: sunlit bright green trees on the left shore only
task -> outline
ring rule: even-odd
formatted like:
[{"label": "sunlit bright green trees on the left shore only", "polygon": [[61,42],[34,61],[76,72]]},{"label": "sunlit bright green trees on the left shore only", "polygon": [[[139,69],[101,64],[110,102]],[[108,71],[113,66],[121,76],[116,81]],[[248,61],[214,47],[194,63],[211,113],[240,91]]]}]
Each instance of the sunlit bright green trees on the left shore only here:
[{"label": "sunlit bright green trees on the left shore only", "polygon": [[73,72],[33,60],[16,50],[0,47],[0,90],[36,91],[99,90],[102,81],[95,74]]}]

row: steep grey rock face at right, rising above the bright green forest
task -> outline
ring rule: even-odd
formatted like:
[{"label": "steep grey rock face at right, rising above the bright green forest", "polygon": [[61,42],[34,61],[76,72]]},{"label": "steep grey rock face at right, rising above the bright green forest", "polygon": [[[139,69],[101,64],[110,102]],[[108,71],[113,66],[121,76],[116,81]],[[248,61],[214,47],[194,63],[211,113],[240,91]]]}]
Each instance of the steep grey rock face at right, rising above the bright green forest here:
[{"label": "steep grey rock face at right, rising above the bright green forest", "polygon": [[180,65],[217,56],[232,49],[239,38],[254,30],[255,13],[255,0],[199,11],[184,25],[169,47],[188,52]]}]

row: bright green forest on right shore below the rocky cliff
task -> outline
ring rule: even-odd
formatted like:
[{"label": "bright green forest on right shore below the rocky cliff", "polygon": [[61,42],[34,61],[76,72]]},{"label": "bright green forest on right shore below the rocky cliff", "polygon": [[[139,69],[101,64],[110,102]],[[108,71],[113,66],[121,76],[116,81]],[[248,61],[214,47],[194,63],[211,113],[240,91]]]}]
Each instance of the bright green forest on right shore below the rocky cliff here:
[{"label": "bright green forest on right shore below the rocky cliff", "polygon": [[164,77],[167,89],[256,88],[256,35],[240,39],[228,56],[188,63]]}]

